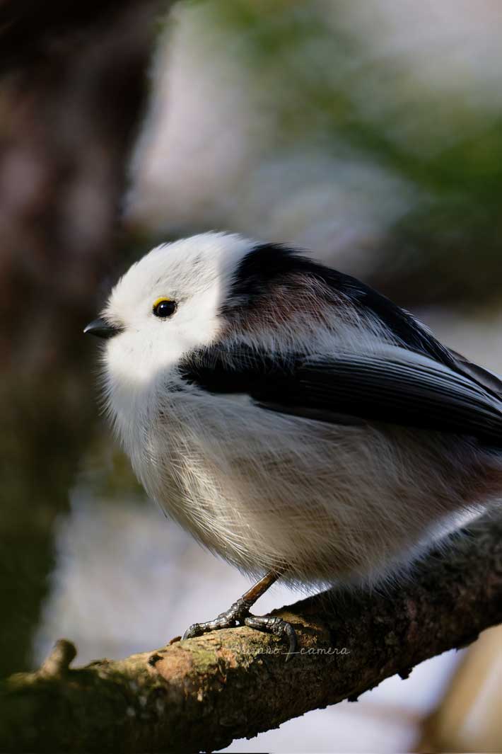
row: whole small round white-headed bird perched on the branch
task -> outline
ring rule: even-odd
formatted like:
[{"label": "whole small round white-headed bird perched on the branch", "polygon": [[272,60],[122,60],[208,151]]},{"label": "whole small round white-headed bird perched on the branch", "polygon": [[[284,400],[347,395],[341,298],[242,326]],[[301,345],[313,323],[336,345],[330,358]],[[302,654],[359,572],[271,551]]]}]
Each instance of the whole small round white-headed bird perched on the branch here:
[{"label": "whole small round white-headed bird perched on the branch", "polygon": [[257,584],[379,584],[502,493],[502,382],[354,277],[205,233],[129,268],[85,333],[146,492]]}]

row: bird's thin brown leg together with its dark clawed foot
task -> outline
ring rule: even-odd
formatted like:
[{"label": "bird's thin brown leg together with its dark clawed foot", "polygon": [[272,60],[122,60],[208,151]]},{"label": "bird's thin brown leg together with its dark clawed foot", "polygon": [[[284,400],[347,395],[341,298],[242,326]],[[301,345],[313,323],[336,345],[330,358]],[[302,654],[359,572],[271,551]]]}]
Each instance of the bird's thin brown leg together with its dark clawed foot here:
[{"label": "bird's thin brown leg together with its dark clawed foot", "polygon": [[185,631],[183,638],[192,639],[193,636],[202,636],[203,633],[208,633],[208,631],[216,631],[221,628],[233,628],[245,624],[250,628],[273,633],[275,636],[286,636],[289,640],[288,656],[286,657],[286,661],[288,661],[291,654],[297,648],[297,636],[294,632],[293,626],[286,621],[283,621],[282,618],[272,617],[271,615],[258,616],[249,614],[249,610],[252,605],[254,605],[254,602],[256,602],[275,581],[277,581],[285,570],[286,569],[269,571],[263,576],[263,578],[260,578],[260,581],[257,581],[251,589],[248,589],[242,597],[239,597],[233,605],[230,605],[228,610],[225,610],[214,618],[214,621],[194,623]]}]

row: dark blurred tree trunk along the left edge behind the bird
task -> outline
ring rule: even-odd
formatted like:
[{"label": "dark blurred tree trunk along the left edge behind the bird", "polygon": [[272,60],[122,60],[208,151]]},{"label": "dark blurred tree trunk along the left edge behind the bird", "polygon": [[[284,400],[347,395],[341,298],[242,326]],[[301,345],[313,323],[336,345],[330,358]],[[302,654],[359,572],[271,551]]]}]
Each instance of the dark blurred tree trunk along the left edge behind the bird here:
[{"label": "dark blurred tree trunk along the left edge behind the bird", "polygon": [[117,257],[168,5],[0,4],[0,675],[29,664],[53,520],[96,419],[81,330]]}]

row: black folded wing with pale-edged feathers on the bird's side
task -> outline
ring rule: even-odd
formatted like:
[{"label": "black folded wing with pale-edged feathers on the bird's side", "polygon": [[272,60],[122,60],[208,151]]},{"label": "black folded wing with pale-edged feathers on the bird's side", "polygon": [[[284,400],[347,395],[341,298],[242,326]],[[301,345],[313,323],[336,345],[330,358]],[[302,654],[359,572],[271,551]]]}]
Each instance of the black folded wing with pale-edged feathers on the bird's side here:
[{"label": "black folded wing with pale-edged feathers on the bird's side", "polygon": [[184,378],[214,393],[248,394],[263,409],[316,421],[381,421],[478,437],[502,445],[502,400],[470,375],[393,345],[278,357],[211,348]]}]

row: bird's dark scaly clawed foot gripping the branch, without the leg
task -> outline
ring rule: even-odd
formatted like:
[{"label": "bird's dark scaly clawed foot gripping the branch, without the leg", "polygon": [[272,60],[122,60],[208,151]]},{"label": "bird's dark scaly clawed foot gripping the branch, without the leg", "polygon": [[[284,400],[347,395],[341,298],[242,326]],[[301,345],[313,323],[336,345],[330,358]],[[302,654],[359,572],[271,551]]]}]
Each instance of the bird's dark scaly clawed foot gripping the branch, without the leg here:
[{"label": "bird's dark scaly clawed foot gripping the branch, without the leg", "polygon": [[234,602],[230,608],[214,618],[214,621],[194,623],[183,634],[184,639],[193,639],[194,636],[202,636],[209,631],[218,631],[222,628],[234,628],[236,626],[248,626],[258,631],[272,633],[273,636],[288,639],[289,647],[286,662],[297,651],[297,634],[294,627],[288,621],[283,621],[274,615],[250,615],[250,605],[242,599]]}]

